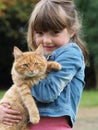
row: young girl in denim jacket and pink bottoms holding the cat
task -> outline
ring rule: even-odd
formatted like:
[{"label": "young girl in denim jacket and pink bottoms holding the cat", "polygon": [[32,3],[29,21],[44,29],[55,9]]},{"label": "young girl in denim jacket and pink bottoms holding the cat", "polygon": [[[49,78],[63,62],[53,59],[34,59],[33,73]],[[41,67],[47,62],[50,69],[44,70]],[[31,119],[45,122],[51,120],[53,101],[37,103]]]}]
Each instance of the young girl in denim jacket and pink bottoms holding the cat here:
[{"label": "young girl in denim jacket and pink bottoms holding the cat", "polygon": [[[28,46],[43,45],[47,60],[62,65],[32,88],[40,122],[30,130],[72,130],[84,88],[87,51],[79,36],[80,22],[73,0],[41,0],[34,8],[28,27]],[[0,106],[0,119],[7,125],[21,115],[8,104]]]}]

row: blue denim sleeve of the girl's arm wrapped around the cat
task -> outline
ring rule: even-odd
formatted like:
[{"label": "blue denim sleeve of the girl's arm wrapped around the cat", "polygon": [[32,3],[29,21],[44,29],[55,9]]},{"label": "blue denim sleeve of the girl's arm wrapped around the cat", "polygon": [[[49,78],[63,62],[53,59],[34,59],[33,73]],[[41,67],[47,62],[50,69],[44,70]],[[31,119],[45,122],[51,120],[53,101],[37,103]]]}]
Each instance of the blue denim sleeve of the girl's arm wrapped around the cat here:
[{"label": "blue denim sleeve of the girl's arm wrapped around the cat", "polygon": [[83,65],[83,55],[77,48],[72,48],[60,53],[55,61],[62,65],[62,69],[51,71],[45,79],[34,85],[31,90],[32,96],[43,103],[53,102],[57,99]]}]

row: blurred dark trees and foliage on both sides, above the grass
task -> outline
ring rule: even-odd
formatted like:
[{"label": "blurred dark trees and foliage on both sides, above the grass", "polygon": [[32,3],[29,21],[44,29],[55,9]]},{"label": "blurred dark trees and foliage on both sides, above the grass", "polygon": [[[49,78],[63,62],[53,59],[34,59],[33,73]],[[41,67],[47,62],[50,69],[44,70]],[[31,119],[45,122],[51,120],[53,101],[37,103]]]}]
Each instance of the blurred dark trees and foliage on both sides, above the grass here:
[{"label": "blurred dark trees and foliage on both sides, above the grass", "polygon": [[[13,47],[27,50],[28,20],[38,0],[0,0],[0,89],[11,86]],[[87,90],[98,89],[98,0],[75,0],[83,23],[83,38],[89,50]]]}]

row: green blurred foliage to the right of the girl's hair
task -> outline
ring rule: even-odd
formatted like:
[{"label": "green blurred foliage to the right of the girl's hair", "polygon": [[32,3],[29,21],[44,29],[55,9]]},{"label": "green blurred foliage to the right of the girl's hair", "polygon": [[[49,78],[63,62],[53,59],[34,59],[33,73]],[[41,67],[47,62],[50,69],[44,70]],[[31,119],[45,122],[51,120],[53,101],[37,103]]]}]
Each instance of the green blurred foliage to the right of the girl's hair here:
[{"label": "green blurred foliage to the right of the girl's hair", "polygon": [[98,65],[98,0],[75,0],[79,11],[82,13],[85,39],[94,57],[94,63]]}]

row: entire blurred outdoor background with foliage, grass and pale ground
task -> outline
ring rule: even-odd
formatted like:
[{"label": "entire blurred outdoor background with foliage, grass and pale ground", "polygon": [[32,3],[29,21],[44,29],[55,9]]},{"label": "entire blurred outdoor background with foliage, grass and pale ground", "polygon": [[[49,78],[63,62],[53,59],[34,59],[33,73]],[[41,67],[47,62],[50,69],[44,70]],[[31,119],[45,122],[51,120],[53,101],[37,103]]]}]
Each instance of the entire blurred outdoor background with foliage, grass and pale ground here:
[{"label": "entire blurred outdoor background with foliage, grass and pale ground", "polygon": [[[0,98],[12,85],[13,47],[26,51],[28,20],[38,0],[0,0]],[[85,89],[74,130],[98,130],[98,0],[75,0],[89,51]]]}]

